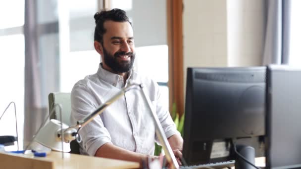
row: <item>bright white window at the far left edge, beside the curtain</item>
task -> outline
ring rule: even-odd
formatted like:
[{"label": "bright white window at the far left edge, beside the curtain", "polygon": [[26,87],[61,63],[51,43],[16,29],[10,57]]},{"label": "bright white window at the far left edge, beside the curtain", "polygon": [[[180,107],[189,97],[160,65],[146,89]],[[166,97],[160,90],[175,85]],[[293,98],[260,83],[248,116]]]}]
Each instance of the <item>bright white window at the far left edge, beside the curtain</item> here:
[{"label": "bright white window at the far left edge, beside the curtain", "polygon": [[[11,10],[13,9],[13,10]],[[0,1],[0,115],[14,101],[17,112],[19,147],[23,147],[24,124],[24,0]],[[8,17],[9,16],[9,17]],[[14,107],[10,105],[0,121],[0,135],[16,136]],[[3,129],[5,128],[5,129]],[[17,150],[17,145],[5,147]]]}]

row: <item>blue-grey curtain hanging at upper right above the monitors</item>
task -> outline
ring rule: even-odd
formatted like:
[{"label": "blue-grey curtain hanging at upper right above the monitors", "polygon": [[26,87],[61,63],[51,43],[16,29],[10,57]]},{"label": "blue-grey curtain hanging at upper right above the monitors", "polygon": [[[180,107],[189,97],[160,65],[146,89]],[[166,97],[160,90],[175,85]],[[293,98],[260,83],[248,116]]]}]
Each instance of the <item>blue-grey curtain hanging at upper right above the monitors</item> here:
[{"label": "blue-grey curtain hanging at upper right above the monitors", "polygon": [[267,0],[263,65],[288,64],[291,0]]}]

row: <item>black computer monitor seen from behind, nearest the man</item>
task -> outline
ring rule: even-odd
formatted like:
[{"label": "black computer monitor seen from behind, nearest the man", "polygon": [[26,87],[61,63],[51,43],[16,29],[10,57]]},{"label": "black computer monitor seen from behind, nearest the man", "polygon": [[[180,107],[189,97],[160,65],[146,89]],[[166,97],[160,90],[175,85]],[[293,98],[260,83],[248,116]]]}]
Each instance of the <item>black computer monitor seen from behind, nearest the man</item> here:
[{"label": "black computer monitor seen from behind, nearest the man", "polygon": [[245,153],[253,153],[251,161],[265,155],[265,81],[266,67],[187,69],[183,157],[188,165],[230,160],[245,165],[232,139],[238,150],[255,149]]}]

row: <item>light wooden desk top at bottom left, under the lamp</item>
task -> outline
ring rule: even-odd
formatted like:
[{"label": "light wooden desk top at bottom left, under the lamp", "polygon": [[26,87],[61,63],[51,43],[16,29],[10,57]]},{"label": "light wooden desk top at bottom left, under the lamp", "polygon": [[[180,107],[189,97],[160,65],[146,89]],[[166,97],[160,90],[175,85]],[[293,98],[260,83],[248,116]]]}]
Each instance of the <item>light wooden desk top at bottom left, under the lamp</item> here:
[{"label": "light wooden desk top at bottom left, under the lamp", "polygon": [[1,169],[135,169],[139,163],[100,157],[51,152],[47,157],[29,157],[23,154],[0,153]]}]

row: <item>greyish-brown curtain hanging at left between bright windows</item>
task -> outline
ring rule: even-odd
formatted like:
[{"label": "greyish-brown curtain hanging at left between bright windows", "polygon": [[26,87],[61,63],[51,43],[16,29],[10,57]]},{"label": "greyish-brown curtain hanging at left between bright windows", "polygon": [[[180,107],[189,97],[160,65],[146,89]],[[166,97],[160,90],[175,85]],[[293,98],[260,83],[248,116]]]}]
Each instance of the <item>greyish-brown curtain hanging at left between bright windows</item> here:
[{"label": "greyish-brown curtain hanging at left between bright windows", "polygon": [[41,103],[36,0],[25,0],[24,148],[47,116]]}]

